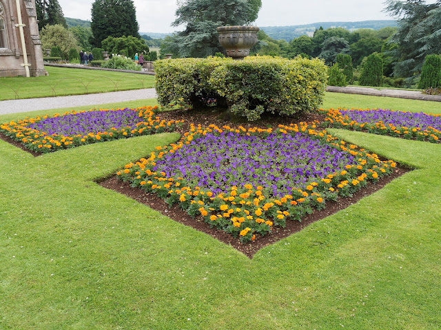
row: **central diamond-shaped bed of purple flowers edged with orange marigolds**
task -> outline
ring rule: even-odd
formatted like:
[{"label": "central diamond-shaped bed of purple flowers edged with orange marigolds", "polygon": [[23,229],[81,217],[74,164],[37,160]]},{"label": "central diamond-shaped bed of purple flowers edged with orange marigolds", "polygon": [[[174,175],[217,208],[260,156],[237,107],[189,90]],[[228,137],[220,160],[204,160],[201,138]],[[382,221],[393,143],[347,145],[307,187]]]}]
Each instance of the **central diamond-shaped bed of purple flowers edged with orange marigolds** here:
[{"label": "central diamond-shaped bed of purple flowers edged with orange marigolds", "polygon": [[275,130],[192,126],[177,144],[157,149],[116,174],[242,242],[287,219],[300,221],[396,166],[305,123]]}]

